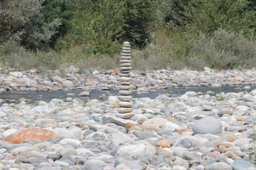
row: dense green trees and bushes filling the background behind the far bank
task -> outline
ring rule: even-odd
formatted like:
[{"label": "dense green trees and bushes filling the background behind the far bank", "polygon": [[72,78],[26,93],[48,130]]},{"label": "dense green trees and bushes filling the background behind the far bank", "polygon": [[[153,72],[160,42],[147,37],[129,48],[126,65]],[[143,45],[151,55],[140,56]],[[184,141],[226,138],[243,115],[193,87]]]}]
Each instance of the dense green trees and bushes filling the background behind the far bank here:
[{"label": "dense green trees and bushes filling the background behind the far bank", "polygon": [[0,0],[0,58],[40,54],[55,68],[52,56],[113,57],[130,41],[154,68],[244,68],[256,58],[255,26],[253,0]]}]

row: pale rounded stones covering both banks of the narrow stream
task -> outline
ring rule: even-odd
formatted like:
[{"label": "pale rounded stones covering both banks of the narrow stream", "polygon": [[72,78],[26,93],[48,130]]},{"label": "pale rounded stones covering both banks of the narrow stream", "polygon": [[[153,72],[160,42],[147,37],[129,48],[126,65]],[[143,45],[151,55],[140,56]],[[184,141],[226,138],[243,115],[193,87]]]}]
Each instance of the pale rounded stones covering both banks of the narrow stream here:
[{"label": "pale rounded stones covering both banks of the narrow stream", "polygon": [[[119,90],[118,69],[73,66],[47,76],[0,69],[0,91]],[[134,116],[121,119],[118,96],[106,100],[1,100],[0,169],[3,170],[256,170],[256,71],[132,71],[131,91],[174,87],[241,86],[239,93],[133,98]],[[210,93],[210,92],[209,92]],[[256,135],[255,135],[256,137]]]}]

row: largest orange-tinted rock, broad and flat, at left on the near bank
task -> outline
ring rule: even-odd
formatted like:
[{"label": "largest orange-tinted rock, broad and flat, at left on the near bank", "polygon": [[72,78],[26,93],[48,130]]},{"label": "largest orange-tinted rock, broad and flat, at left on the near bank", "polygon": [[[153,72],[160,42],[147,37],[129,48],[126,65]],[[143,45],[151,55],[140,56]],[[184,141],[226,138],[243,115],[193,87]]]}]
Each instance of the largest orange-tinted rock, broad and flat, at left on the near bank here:
[{"label": "largest orange-tinted rock, broad and flat, at left on the near bank", "polygon": [[56,134],[52,130],[40,129],[36,127],[23,128],[4,138],[4,141],[21,144],[24,139],[46,140],[50,137],[55,138]]}]

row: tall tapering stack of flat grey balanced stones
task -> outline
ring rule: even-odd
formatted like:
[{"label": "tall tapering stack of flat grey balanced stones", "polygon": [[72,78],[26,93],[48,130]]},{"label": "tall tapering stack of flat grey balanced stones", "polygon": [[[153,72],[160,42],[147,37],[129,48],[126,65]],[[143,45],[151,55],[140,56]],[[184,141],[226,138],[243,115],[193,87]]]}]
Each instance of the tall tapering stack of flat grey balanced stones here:
[{"label": "tall tapering stack of flat grey balanced stones", "polygon": [[122,57],[120,62],[122,63],[120,66],[119,71],[119,81],[121,86],[119,86],[119,94],[118,98],[121,100],[118,102],[119,108],[117,111],[119,113],[116,113],[115,116],[122,119],[128,119],[134,116],[134,113],[132,112],[132,96],[131,96],[131,45],[129,42],[124,42],[123,48],[122,48]]}]

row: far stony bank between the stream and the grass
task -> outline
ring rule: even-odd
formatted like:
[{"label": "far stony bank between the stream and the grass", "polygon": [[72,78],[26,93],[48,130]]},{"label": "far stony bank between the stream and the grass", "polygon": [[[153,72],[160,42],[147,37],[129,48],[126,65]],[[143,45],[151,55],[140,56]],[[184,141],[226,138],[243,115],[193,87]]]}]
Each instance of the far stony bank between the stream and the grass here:
[{"label": "far stony bank between the stream and the grass", "polygon": [[[118,69],[88,71],[74,66],[63,70],[46,71],[38,74],[36,70],[13,71],[0,69],[0,91],[56,91],[56,90],[115,90],[118,86]],[[135,71],[131,73],[131,87],[134,91],[151,91],[172,87],[206,86],[221,87],[256,85],[255,68],[239,71]]]}]

